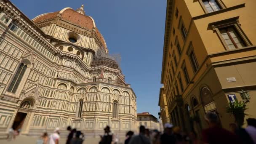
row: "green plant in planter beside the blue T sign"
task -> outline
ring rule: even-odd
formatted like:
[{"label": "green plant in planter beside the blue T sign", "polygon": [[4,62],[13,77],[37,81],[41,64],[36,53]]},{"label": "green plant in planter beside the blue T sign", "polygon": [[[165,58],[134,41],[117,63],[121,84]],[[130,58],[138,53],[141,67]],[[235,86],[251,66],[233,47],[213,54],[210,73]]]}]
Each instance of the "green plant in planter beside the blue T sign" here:
[{"label": "green plant in planter beside the blue T sign", "polygon": [[246,103],[243,101],[237,101],[235,102],[229,102],[229,104],[226,107],[226,112],[229,114],[232,114],[235,117],[235,122],[239,127],[241,127],[244,123],[244,118],[247,111]]}]

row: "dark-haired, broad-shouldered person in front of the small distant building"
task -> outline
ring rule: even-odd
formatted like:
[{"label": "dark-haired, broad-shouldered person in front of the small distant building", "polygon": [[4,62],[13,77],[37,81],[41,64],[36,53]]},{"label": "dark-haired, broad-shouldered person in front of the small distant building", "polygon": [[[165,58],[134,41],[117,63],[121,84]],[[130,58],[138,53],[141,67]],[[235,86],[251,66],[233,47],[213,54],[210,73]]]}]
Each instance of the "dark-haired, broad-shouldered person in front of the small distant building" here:
[{"label": "dark-haired, broad-shouldered person in front of the small distant building", "polygon": [[128,144],[150,144],[149,138],[145,136],[145,127],[139,127],[139,135],[133,136]]}]

